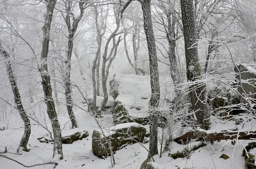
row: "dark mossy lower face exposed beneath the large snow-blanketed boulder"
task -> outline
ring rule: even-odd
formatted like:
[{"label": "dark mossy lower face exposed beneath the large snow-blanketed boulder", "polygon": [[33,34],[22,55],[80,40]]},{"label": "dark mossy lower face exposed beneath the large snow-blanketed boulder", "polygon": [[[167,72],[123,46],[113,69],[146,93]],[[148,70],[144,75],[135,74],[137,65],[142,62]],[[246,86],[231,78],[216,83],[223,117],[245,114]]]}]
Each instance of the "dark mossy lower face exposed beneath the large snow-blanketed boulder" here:
[{"label": "dark mossy lower face exposed beneath the large snow-blanketed boulder", "polygon": [[146,125],[149,123],[148,117],[145,117],[145,118],[131,117],[128,114],[127,109],[119,101],[114,102],[112,115],[113,115],[114,124],[136,122],[142,125]]}]

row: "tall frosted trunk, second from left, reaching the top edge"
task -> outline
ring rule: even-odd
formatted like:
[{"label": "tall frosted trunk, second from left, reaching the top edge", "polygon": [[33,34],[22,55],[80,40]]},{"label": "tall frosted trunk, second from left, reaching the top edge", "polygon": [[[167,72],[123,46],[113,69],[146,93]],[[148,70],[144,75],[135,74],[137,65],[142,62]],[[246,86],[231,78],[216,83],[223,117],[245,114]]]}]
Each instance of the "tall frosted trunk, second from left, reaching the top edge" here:
[{"label": "tall frosted trunk, second from left, reaching the top edge", "polygon": [[45,0],[45,1],[46,1],[46,13],[44,15],[44,26],[42,28],[43,41],[42,41],[42,52],[41,52],[42,63],[40,67],[40,73],[42,77],[42,86],[44,91],[45,104],[47,105],[47,114],[51,121],[53,134],[54,134],[53,158],[63,159],[60,124],[59,124],[57,113],[55,110],[55,104],[52,98],[51,78],[48,74],[48,67],[47,67],[50,30],[51,30],[51,23],[52,23],[53,11],[56,4],[56,0]]}]

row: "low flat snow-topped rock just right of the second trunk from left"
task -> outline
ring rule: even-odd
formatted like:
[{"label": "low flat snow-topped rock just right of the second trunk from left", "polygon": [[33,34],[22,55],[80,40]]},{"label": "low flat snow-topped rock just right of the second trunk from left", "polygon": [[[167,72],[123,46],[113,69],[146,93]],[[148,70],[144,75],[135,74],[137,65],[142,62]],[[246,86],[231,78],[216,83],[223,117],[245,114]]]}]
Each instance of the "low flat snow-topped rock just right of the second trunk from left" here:
[{"label": "low flat snow-topped rock just right of the second trunk from left", "polygon": [[61,135],[63,144],[71,144],[74,141],[82,140],[83,138],[88,137],[89,133],[86,130],[80,130],[75,128],[71,130],[65,130],[61,133]]}]

